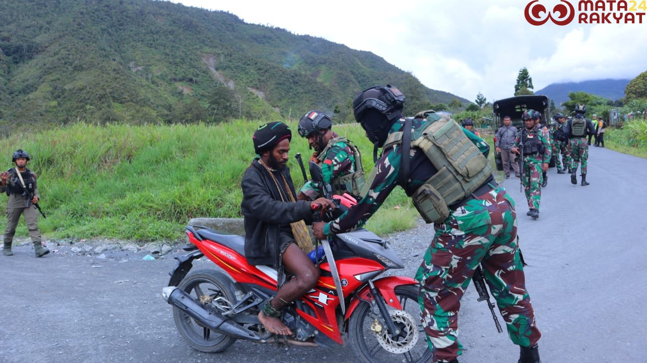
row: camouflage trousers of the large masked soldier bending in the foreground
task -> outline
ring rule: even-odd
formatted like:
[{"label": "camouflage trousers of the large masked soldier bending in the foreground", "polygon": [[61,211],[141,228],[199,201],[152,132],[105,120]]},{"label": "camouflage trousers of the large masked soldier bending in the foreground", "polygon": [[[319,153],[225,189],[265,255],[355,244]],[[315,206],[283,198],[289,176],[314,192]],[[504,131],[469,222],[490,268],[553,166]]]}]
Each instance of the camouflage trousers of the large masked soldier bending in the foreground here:
[{"label": "camouflage trousers of the large masked soldier bending in the foreground", "polygon": [[542,335],[525,288],[514,201],[505,189],[497,187],[470,200],[443,223],[435,223],[434,230],[415,279],[421,285],[422,325],[435,359],[450,361],[463,353],[458,311],[479,264],[510,340],[525,347],[536,344]]}]

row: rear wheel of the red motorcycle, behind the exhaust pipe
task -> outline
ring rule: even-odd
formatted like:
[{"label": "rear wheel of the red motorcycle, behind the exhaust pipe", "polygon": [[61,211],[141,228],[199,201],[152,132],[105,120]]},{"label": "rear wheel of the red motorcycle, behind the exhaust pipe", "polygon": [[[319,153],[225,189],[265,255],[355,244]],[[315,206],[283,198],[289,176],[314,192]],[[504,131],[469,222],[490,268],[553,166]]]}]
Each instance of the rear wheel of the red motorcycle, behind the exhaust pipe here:
[{"label": "rear wheel of the red motorcycle, behind the exhaust pipe", "polygon": [[[178,284],[179,289],[199,301],[209,301],[216,308],[231,307],[235,302],[234,293],[230,289],[229,278],[212,269],[192,271]],[[202,300],[201,300],[202,299]],[[223,301],[222,299],[225,299]],[[221,309],[218,309],[222,311]],[[198,351],[204,353],[219,353],[236,342],[236,338],[222,333],[216,333],[186,315],[181,309],[173,307],[175,326],[186,342]]]}]

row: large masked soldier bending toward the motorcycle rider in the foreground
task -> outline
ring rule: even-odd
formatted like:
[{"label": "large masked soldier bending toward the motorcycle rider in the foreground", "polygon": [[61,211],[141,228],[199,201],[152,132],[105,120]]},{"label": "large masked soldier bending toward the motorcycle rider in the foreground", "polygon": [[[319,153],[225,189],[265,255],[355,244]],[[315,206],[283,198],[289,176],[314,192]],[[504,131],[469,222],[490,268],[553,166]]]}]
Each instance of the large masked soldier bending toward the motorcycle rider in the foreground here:
[{"label": "large masked soldier bending toward the motorcycle rider in the foreground", "polygon": [[[480,264],[507,324],[510,339],[521,347],[519,362],[540,363],[537,342],[541,333],[525,289],[516,242],[514,201],[492,176],[487,161],[487,143],[472,132],[466,132],[454,120],[436,113],[428,114],[426,119],[408,121],[401,117],[403,103],[404,95],[389,85],[369,88],[356,96],[353,102],[355,119],[366,130],[369,140],[382,147],[382,154],[367,178],[360,202],[333,222],[314,223],[314,235],[326,238],[362,227],[388,194],[400,185],[412,196],[423,218],[434,223],[431,244],[415,278],[421,285],[422,323],[435,361],[457,363],[457,356],[463,352],[457,337],[458,309]],[[408,142],[403,140],[407,136],[402,131],[410,122],[411,147],[409,152],[403,152]],[[442,147],[424,142],[428,138],[422,135],[423,130],[432,129],[435,130],[433,138],[437,134],[444,135],[435,139],[444,140]],[[431,160],[428,152],[440,149],[448,154],[438,154],[437,160]],[[408,158],[403,160],[403,154]],[[458,166],[450,165],[448,155],[459,156],[456,159]],[[474,174],[474,179],[479,180],[477,184],[464,184],[461,174],[465,172],[461,167],[464,162],[479,165],[472,170],[480,170]],[[450,169],[454,172],[448,172]],[[445,200],[448,191],[440,187],[439,180],[445,187],[466,185],[468,193],[458,200]],[[442,203],[437,208],[432,207],[428,201],[435,198],[424,196],[441,189]],[[444,207],[443,203],[446,203]]]}]

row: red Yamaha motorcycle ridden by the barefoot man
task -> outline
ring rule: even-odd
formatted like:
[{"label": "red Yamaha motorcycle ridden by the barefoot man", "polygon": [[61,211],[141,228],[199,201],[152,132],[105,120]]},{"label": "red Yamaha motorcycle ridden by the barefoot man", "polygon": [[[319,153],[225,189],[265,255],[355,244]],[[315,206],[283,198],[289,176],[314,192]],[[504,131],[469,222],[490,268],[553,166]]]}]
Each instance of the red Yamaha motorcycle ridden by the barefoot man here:
[{"label": "red Yamaha motorcycle ridden by the barefoot man", "polygon": [[[353,203],[335,198],[342,205]],[[175,325],[193,348],[217,353],[236,339],[345,346],[349,339],[362,362],[432,361],[417,282],[405,276],[378,277],[404,265],[374,233],[363,229],[338,234],[311,253],[323,250],[315,259],[321,274],[311,291],[283,311],[281,320],[293,332],[290,337],[270,333],[258,320],[263,304],[276,294],[278,274],[273,267],[248,264],[243,236],[197,226],[186,227],[186,236],[190,252],[177,258],[162,296],[173,306]],[[193,260],[203,256],[229,276],[215,269],[190,271]]]}]

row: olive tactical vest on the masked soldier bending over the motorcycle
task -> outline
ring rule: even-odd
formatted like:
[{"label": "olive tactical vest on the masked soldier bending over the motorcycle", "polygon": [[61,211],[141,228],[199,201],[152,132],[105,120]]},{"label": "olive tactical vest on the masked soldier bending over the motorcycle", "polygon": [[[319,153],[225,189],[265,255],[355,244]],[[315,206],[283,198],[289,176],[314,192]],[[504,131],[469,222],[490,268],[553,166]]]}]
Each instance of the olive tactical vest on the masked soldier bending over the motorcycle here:
[{"label": "olive tactical vest on the masked soldier bending over the motorcycle", "polygon": [[[401,143],[402,132],[393,132],[384,149]],[[413,131],[411,147],[422,150],[438,171],[411,195],[427,223],[446,220],[448,205],[465,199],[492,175],[490,162],[453,119],[429,116]]]}]

